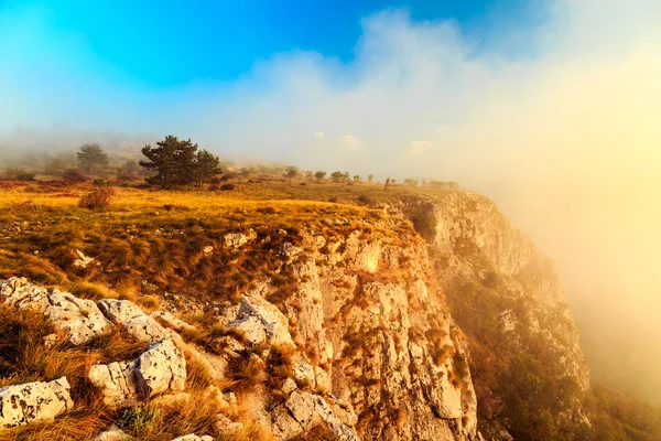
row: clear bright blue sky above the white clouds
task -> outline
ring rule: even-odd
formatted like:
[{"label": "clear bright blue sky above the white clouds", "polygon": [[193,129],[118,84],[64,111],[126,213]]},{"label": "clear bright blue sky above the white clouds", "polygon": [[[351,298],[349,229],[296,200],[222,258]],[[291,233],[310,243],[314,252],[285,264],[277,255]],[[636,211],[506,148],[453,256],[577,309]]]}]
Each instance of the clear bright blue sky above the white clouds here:
[{"label": "clear bright blue sky above the white clouds", "polygon": [[[393,8],[407,9],[414,22],[456,21],[476,49],[498,42],[499,30],[512,23],[530,28],[543,17],[543,8],[522,0],[4,0],[0,56],[28,71],[58,66],[73,77],[133,88],[217,84],[294,50],[350,63],[361,20]],[[520,40],[497,49],[518,56],[529,52],[525,45]]]}]

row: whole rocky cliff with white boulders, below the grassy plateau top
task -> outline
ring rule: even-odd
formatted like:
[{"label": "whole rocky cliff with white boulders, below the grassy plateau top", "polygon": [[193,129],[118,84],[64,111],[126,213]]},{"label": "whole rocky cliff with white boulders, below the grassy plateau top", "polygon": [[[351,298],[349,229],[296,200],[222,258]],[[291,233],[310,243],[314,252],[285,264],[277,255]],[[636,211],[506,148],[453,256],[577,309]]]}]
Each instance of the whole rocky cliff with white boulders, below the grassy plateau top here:
[{"label": "whole rocky cliff with white boulders, below the grassy plateau top", "polygon": [[[166,278],[150,279],[145,268],[143,295],[160,297],[155,305],[143,302],[151,312],[112,298],[112,289],[104,291],[109,298],[87,300],[6,280],[2,308],[41,314],[53,326],[44,346],[87,354],[83,374],[76,367],[69,378],[40,378],[71,384],[71,398],[33,419],[52,420],[72,406],[80,411],[98,396],[90,438],[123,429],[129,434],[121,437],[140,439],[136,421],[148,410],[165,415],[192,402],[206,404],[197,412],[204,418],[186,417],[196,422],[185,427],[217,439],[549,439],[522,429],[539,422],[521,415],[531,400],[548,410],[553,433],[587,422],[587,365],[553,263],[474,193],[413,196],[381,208],[329,211],[288,229],[253,223],[219,232],[191,222],[141,237],[131,226],[127,240],[161,260],[166,248],[150,240],[196,234],[195,268],[185,275],[195,283],[204,270],[207,286],[218,280],[224,290],[166,292]],[[77,276],[138,272],[129,258],[118,269],[112,254],[95,252],[94,244],[83,255],[91,263],[76,267]],[[228,292],[242,267],[251,280]],[[35,376],[30,369],[8,370],[14,386]],[[76,375],[96,395],[80,401]],[[175,413],[175,421],[186,415]],[[188,432],[173,427],[159,439]]]}]

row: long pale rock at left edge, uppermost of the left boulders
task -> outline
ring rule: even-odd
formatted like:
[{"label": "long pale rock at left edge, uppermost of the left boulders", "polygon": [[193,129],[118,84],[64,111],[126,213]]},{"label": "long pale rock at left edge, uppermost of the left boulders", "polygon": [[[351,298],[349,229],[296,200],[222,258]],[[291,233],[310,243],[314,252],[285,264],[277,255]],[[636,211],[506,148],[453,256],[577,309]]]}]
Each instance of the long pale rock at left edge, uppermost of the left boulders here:
[{"label": "long pale rock at left edge, uppermost of the left boulders", "polygon": [[111,326],[94,301],[57,289],[48,293],[25,278],[12,277],[0,282],[0,302],[43,313],[74,345],[87,343]]}]

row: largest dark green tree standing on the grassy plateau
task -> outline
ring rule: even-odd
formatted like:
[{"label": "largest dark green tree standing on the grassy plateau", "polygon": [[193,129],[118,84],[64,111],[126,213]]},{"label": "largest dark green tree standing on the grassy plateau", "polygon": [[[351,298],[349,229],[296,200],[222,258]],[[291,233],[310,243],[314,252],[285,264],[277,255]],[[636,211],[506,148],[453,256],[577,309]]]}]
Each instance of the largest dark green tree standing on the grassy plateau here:
[{"label": "largest dark green tree standing on the grassy plateau", "polygon": [[147,144],[142,148],[142,154],[149,161],[140,161],[140,165],[156,173],[148,178],[147,182],[167,189],[195,180],[197,144],[192,143],[191,139],[184,141],[169,135],[163,141],[156,142],[156,146]]}]

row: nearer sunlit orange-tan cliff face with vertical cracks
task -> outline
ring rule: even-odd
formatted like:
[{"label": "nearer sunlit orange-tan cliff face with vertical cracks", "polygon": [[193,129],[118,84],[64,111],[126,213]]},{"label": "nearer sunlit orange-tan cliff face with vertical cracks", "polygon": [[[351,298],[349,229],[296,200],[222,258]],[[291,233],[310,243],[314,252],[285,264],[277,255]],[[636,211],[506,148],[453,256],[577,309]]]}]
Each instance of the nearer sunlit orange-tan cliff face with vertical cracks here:
[{"label": "nearer sunlit orange-tan cliff face with vertical cracks", "polygon": [[294,252],[286,247],[296,281],[282,309],[294,342],[330,373],[361,439],[475,439],[465,341],[436,291],[426,244],[392,227],[305,233]]}]

